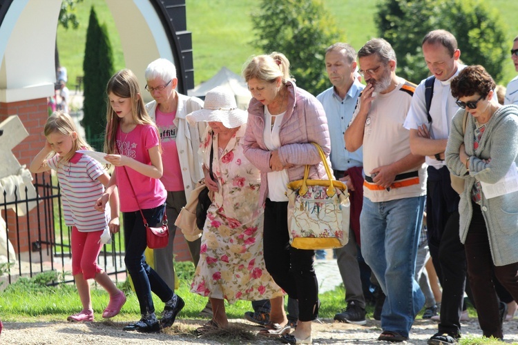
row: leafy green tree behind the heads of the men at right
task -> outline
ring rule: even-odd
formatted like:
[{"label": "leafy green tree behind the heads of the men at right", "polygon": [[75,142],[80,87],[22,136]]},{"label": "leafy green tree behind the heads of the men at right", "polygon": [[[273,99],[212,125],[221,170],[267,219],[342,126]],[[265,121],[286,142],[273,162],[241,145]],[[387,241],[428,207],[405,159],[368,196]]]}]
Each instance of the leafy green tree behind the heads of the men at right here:
[{"label": "leafy green tree behind the heads of the men at right", "polygon": [[377,13],[378,32],[392,44],[398,74],[419,83],[429,71],[421,41],[431,30],[444,29],[457,38],[461,60],[479,64],[493,79],[502,77],[508,59],[506,25],[496,9],[481,0],[383,0]]}]

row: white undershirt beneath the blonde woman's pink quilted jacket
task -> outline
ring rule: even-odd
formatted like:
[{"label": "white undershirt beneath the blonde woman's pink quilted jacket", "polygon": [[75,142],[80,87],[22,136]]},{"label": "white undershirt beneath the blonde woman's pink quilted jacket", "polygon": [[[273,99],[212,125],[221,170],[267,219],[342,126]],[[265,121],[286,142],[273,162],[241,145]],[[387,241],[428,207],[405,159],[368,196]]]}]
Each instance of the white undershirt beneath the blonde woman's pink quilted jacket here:
[{"label": "white undershirt beneath the blonde woman's pink quilted jacket", "polygon": [[[268,107],[265,106],[265,130],[262,132],[262,139],[265,140],[265,146],[270,151],[280,148],[280,124],[285,114],[286,112],[281,112],[279,115],[271,115]],[[272,117],[275,117],[273,126],[271,124]],[[288,171],[284,169],[268,172],[267,179],[267,197],[271,201],[288,201],[288,197],[285,194],[287,192],[287,184],[289,183]]]}]

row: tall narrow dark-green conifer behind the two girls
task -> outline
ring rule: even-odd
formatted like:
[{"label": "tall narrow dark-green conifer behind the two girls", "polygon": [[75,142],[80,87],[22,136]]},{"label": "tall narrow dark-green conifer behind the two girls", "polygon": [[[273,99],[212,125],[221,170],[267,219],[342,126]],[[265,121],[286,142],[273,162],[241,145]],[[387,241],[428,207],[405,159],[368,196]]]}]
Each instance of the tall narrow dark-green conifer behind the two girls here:
[{"label": "tall narrow dark-green conifer behind the two girls", "polygon": [[113,75],[113,52],[106,26],[99,25],[93,7],[86,31],[83,71],[84,117],[81,125],[88,143],[101,151],[106,130],[106,84]]}]

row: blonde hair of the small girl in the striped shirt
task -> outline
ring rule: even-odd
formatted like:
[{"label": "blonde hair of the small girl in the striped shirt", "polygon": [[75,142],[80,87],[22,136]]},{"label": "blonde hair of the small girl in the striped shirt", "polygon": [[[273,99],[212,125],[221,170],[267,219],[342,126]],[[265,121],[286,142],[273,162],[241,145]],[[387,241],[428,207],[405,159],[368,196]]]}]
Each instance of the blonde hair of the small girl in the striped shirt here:
[{"label": "blonde hair of the small girl in the striped shirt", "polygon": [[75,151],[77,150],[93,150],[86,140],[79,135],[74,120],[66,112],[55,111],[48,117],[47,123],[44,127],[44,135],[45,137],[48,137],[53,132],[59,132],[62,135],[72,135],[73,132],[76,133],[76,139],[72,140],[72,150],[61,157],[60,163],[69,161],[70,158],[75,155]]}]

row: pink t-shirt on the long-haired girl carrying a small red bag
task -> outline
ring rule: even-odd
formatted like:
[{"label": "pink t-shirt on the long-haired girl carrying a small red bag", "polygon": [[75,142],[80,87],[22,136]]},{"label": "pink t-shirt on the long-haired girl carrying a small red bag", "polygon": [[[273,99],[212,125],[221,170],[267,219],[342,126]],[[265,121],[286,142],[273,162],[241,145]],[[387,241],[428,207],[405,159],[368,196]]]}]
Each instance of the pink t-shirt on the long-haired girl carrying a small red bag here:
[{"label": "pink t-shirt on the long-haired girl carrying a small red bag", "polygon": [[[136,161],[151,165],[151,158],[148,150],[159,143],[158,133],[151,125],[137,125],[131,132],[124,133],[117,129],[117,150],[120,155],[131,157]],[[126,172],[128,174],[126,175]],[[153,179],[136,172],[127,166],[116,166],[117,188],[120,195],[120,210],[122,212],[133,212],[142,209],[155,208],[165,203],[167,192],[160,179]],[[128,181],[128,177],[131,180]],[[135,196],[138,199],[135,200]]]}]

